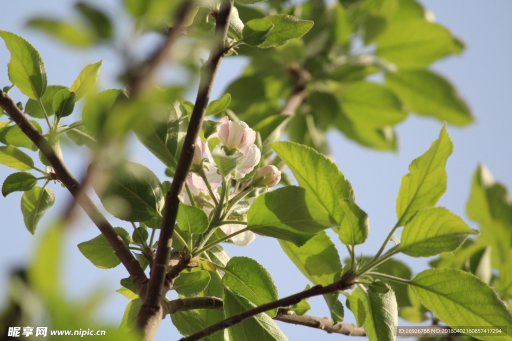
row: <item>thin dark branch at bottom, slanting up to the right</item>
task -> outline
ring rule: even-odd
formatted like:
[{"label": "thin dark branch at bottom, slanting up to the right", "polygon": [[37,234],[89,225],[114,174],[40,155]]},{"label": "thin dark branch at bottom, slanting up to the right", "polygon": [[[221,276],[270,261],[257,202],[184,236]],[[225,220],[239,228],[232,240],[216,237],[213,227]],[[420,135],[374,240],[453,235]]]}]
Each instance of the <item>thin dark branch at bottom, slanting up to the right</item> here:
[{"label": "thin dark branch at bottom, slanting up to the right", "polygon": [[212,325],[208,328],[205,328],[195,334],[184,337],[184,338],[180,339],[180,341],[198,341],[208,335],[214,334],[220,330],[224,330],[228,327],[236,325],[236,324],[244,321],[244,319],[261,314],[267,310],[294,305],[294,304],[301,302],[304,299],[307,299],[308,297],[317,296],[317,295],[325,295],[325,294],[334,293],[337,291],[346,290],[346,289],[352,287],[352,285],[353,285],[352,281],[354,281],[352,273],[347,272],[342,276],[342,278],[339,281],[336,281],[328,286],[324,287],[322,285],[317,285],[317,286],[312,287],[311,289],[304,290],[302,292],[298,292],[291,296],[285,297],[284,299],[273,301],[273,302],[266,303],[266,304],[262,304],[261,306],[246,310],[240,314],[230,316],[230,317],[224,319],[224,321],[221,321],[221,322],[219,322],[215,325]]}]

